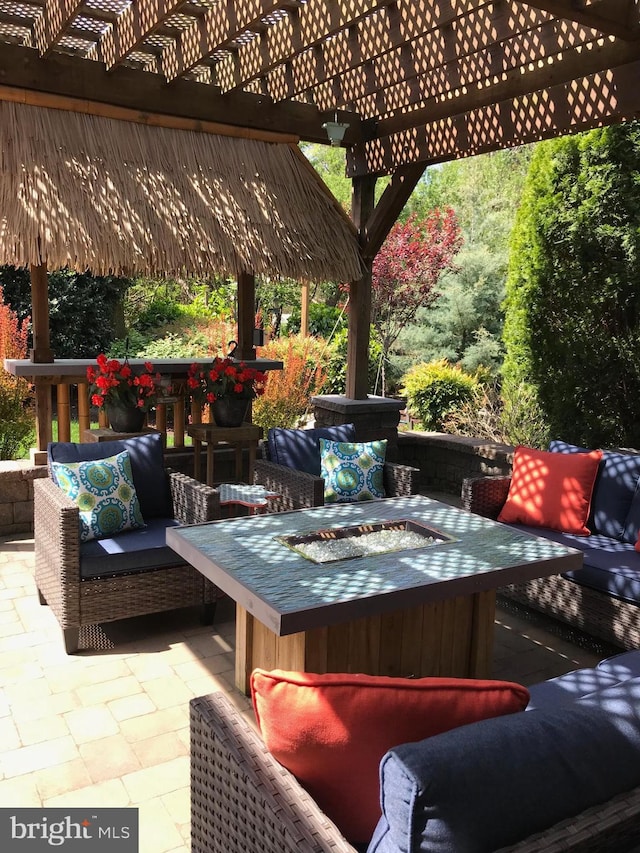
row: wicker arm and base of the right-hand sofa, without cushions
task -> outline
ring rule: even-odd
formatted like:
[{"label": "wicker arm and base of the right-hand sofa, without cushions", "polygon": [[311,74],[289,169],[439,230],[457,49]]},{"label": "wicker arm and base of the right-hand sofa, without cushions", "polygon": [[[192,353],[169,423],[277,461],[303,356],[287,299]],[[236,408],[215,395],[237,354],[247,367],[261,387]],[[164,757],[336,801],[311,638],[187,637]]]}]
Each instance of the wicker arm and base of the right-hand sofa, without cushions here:
[{"label": "wicker arm and base of the right-hand sofa, without cushions", "polygon": [[[507,499],[511,478],[474,477],[462,484],[462,506],[497,518]],[[626,649],[640,647],[640,607],[578,585],[562,575],[510,584],[500,595],[560,619],[587,634]]]}]

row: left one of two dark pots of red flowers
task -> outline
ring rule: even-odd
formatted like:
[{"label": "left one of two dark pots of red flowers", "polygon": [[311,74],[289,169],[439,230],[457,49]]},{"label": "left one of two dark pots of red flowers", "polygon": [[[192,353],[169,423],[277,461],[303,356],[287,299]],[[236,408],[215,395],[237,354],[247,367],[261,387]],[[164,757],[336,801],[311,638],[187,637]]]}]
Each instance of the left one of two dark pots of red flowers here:
[{"label": "left one of two dark pots of red flowers", "polygon": [[116,432],[139,432],[145,413],[156,405],[161,394],[162,377],[149,361],[139,372],[126,358],[118,361],[101,353],[96,361],[97,368],[87,368],[91,404],[104,407]]}]

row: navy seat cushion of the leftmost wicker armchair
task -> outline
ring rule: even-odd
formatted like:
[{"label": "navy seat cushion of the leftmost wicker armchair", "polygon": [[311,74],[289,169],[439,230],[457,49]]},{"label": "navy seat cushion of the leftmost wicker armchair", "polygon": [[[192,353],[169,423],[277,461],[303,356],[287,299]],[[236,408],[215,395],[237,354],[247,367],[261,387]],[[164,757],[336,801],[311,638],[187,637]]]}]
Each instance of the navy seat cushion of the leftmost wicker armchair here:
[{"label": "navy seat cushion of the leftmost wicker armchair", "polygon": [[90,580],[183,564],[166,544],[167,528],[179,526],[175,519],[154,518],[141,530],[84,542],[80,546],[80,577]]}]

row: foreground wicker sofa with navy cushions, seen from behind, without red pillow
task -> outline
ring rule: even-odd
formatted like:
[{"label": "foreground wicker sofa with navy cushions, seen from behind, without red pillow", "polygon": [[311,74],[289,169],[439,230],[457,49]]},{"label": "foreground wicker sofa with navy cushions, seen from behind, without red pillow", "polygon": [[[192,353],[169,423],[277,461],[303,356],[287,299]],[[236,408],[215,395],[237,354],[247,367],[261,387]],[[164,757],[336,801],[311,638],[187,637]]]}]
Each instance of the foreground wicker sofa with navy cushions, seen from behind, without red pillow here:
[{"label": "foreground wicker sofa with navy cushions, seen from behind, without red pillow", "polygon": [[[472,723],[387,753],[381,768],[393,753],[402,756],[404,751],[406,759],[416,749],[431,750],[425,763],[429,766],[435,755],[445,768],[445,784],[438,788],[436,781],[433,795],[430,785],[424,785],[432,801],[418,808],[418,820],[425,814],[435,823],[444,820],[446,810],[439,811],[438,796],[449,798],[449,816],[453,811],[454,820],[462,820],[466,841],[451,847],[436,840],[430,846],[413,827],[397,836],[402,840],[396,845],[393,836],[384,834],[381,820],[370,853],[488,853],[495,848],[481,839],[483,832],[494,838],[511,834],[507,844],[498,844],[502,853],[637,851],[640,723],[633,708],[640,692],[640,655],[631,654],[635,659],[630,667],[621,655],[621,663],[613,658],[594,670],[530,688],[531,710]],[[190,711],[193,853],[354,853],[356,848],[273,759],[229,697],[199,697],[191,701]],[[630,719],[631,746],[622,742]],[[620,729],[625,731],[622,741]],[[560,736],[565,731],[567,738]],[[451,784],[456,779],[464,780],[459,791],[455,781]],[[452,796],[459,798],[460,814]],[[580,808],[581,797],[589,807]],[[474,806],[476,799],[481,803]],[[555,819],[548,819],[547,811]],[[535,831],[515,838],[512,827],[503,831],[502,824],[512,820],[514,812],[516,822],[535,826]]]}]

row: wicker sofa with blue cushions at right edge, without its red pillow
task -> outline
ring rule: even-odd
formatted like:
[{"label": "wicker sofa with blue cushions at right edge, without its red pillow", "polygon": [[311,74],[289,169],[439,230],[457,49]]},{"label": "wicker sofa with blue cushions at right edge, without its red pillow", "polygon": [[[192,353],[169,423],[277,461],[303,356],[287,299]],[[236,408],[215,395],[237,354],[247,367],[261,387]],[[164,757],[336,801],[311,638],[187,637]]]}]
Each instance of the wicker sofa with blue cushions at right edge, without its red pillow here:
[{"label": "wicker sofa with blue cushions at right edge, without its red pillow", "polygon": [[[554,441],[554,452],[583,448]],[[640,553],[634,542],[640,525],[640,455],[605,451],[592,496],[590,536],[521,527],[583,552],[583,568],[566,575],[514,584],[499,593],[625,649],[640,647]],[[608,476],[607,476],[608,475]],[[498,518],[511,477],[474,477],[463,482],[462,507]],[[595,508],[595,512],[594,512]],[[619,531],[626,530],[626,536]]]}]

